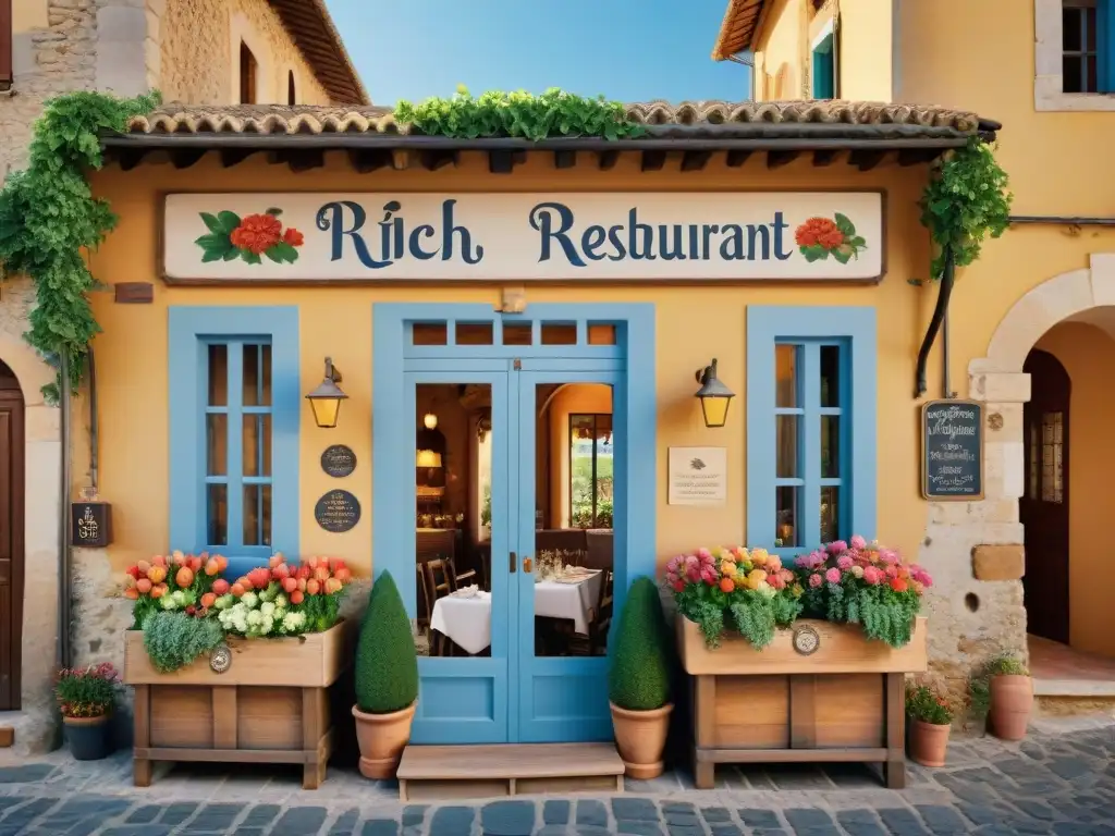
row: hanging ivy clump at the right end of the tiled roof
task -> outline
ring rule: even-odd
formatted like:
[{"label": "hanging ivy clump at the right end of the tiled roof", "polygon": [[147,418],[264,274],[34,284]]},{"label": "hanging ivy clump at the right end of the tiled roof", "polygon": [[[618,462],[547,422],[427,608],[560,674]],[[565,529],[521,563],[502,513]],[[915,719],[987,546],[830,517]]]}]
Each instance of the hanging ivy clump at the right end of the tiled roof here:
[{"label": "hanging ivy clump at the right end of the tiled roof", "polygon": [[993,148],[978,138],[937,168],[921,201],[921,223],[935,247],[930,266],[934,280],[944,274],[947,253],[951,252],[954,266],[968,266],[979,259],[988,237],[1007,231],[1014,201],[1008,184]]}]

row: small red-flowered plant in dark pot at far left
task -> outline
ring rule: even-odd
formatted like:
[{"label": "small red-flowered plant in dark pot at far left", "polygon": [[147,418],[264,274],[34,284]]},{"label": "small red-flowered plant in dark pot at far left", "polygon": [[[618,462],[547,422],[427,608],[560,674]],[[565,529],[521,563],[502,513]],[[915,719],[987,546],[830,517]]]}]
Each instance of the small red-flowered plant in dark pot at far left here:
[{"label": "small red-flowered plant in dark pot at far left", "polygon": [[113,751],[109,720],[118,683],[116,669],[109,662],[58,672],[55,696],[75,760],[100,760]]}]

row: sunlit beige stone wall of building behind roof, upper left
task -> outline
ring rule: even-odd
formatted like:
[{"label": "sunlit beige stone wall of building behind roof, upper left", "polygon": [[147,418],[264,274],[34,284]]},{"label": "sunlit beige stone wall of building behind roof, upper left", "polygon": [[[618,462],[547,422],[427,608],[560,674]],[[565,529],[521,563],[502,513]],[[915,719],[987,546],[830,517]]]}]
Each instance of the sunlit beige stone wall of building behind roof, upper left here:
[{"label": "sunlit beige stone wall of building behind roof, upper left", "polygon": [[285,105],[291,71],[297,104],[329,104],[324,88],[266,0],[166,0],[161,41],[161,90],[166,101],[239,101],[243,41],[259,62],[259,104]]}]

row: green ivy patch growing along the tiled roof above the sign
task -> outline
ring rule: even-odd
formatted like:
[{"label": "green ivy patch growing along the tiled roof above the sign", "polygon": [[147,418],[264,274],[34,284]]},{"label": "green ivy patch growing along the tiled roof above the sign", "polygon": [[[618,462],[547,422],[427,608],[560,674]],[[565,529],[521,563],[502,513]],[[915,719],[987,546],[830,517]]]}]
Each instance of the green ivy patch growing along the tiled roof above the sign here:
[{"label": "green ivy patch growing along the tiled roof above the sign", "polygon": [[632,121],[622,103],[603,96],[585,98],[552,87],[541,96],[530,93],[485,93],[473,98],[463,85],[452,98],[400,101],[395,117],[427,136],[457,139],[522,137],[539,142],[556,136],[597,136],[626,139],[646,129]]}]

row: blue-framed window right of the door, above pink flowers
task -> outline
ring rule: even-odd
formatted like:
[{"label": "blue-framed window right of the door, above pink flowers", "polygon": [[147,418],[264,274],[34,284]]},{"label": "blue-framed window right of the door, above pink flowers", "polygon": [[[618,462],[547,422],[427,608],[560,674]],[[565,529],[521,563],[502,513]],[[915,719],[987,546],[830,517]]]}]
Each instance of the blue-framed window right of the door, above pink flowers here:
[{"label": "blue-framed window right of the door, above pink flowers", "polygon": [[875,536],[875,311],[747,311],[747,541]]}]

